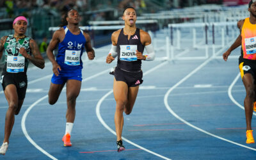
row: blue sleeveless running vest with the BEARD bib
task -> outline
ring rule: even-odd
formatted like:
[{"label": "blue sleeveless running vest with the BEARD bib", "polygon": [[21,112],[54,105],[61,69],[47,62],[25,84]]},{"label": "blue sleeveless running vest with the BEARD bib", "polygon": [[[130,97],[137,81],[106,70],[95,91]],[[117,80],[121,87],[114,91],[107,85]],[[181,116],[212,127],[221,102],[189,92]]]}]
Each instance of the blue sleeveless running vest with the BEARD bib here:
[{"label": "blue sleeveless running vest with the BEARD bib", "polygon": [[63,28],[65,29],[65,38],[58,46],[56,61],[61,66],[63,72],[81,70],[83,68],[81,56],[86,43],[83,31],[80,29],[79,35],[73,35],[67,26]]}]

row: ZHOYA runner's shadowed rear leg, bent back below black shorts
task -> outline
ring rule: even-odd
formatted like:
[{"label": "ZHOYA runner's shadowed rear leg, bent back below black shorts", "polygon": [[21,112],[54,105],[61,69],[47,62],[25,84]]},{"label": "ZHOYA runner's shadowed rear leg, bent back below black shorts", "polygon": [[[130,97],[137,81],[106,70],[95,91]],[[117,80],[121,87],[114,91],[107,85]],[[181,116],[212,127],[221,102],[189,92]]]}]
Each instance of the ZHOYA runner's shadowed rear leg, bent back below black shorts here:
[{"label": "ZHOYA runner's shadowed rear leg, bent back below black shorts", "polygon": [[126,115],[129,115],[132,112],[138,91],[140,86],[129,87],[128,89],[128,100],[125,105],[124,112]]}]

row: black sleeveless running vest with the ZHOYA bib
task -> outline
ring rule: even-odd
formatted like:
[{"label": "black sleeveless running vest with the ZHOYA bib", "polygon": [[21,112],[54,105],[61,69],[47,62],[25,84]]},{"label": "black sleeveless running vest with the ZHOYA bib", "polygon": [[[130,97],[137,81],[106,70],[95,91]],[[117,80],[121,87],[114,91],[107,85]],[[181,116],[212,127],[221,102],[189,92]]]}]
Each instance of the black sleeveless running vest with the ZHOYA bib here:
[{"label": "black sleeveless running vest with the ZHOYA bib", "polygon": [[122,28],[117,40],[117,67],[129,72],[138,72],[141,70],[141,60],[137,60],[136,50],[144,51],[144,45],[140,41],[140,29],[136,28],[134,35],[128,40],[128,35],[124,35]]}]

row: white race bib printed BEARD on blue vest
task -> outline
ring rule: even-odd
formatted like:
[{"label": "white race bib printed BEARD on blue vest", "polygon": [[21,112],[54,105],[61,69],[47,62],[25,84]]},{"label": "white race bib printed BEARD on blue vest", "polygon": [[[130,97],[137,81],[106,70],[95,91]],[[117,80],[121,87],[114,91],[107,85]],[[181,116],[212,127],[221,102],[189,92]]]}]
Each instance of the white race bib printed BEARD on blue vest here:
[{"label": "white race bib printed BEARD on blue vest", "polygon": [[67,65],[80,65],[81,51],[66,50],[65,52],[65,64]]}]

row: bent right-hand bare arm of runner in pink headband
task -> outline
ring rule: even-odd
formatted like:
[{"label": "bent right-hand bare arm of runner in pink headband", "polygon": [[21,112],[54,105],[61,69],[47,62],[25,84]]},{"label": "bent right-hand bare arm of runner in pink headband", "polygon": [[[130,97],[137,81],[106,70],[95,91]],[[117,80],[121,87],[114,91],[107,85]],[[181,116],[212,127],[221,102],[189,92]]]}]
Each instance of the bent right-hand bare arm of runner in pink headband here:
[{"label": "bent right-hand bare arm of runner in pink headband", "polygon": [[20,48],[20,54],[22,54],[22,56],[24,56],[25,58],[28,58],[28,60],[31,61],[36,67],[44,68],[44,58],[42,57],[35,40],[29,40],[29,46],[31,48],[33,56],[30,56],[26,52],[26,49],[24,49],[24,47]]}]

